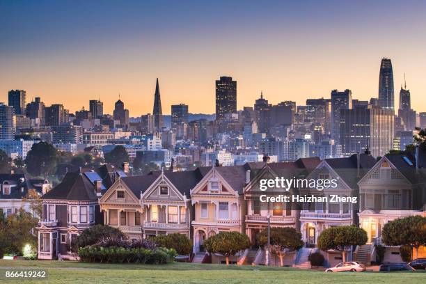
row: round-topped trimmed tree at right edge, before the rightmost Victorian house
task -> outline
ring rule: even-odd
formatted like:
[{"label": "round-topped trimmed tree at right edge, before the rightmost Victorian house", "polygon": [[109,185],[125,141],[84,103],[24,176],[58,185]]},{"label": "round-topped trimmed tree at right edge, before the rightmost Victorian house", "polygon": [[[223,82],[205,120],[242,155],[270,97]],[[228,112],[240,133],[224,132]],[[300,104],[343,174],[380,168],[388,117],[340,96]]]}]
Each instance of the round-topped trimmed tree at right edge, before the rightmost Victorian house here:
[{"label": "round-topped trimmed tree at right edge, before the rightmost Victorian house", "polygon": [[388,246],[409,246],[411,251],[426,246],[426,217],[409,216],[385,224],[381,232],[383,242]]}]

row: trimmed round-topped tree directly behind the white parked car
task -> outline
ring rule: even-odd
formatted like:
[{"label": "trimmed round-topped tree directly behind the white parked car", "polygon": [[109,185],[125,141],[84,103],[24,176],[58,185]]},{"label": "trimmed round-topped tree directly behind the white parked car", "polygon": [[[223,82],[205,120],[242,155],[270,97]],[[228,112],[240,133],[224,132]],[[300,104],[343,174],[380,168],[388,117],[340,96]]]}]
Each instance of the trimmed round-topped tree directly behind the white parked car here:
[{"label": "trimmed round-topped tree directly behind the white parked car", "polygon": [[337,226],[325,229],[318,238],[318,248],[322,251],[334,249],[342,252],[346,260],[346,250],[351,246],[362,246],[368,240],[367,232],[355,226]]}]

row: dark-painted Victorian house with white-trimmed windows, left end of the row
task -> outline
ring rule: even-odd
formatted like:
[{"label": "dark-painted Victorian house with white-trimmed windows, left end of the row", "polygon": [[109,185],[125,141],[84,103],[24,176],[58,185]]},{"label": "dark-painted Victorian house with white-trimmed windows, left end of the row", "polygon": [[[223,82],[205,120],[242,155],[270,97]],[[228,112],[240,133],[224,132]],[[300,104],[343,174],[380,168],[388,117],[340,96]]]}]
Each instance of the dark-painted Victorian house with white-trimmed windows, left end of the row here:
[{"label": "dark-painted Victorian house with white-trimmed windows, left end of the row", "polygon": [[102,223],[97,199],[102,180],[94,171],[68,172],[62,182],[42,197],[38,223],[38,258],[66,258],[74,239],[89,226]]}]

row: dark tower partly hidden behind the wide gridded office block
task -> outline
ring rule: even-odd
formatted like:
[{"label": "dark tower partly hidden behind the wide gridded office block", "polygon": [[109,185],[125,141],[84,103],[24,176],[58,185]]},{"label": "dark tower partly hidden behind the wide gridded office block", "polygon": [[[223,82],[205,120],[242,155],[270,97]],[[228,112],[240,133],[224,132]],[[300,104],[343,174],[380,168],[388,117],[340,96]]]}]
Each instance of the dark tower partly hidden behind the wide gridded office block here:
[{"label": "dark tower partly hidden behind the wide gridded office block", "polygon": [[352,91],[331,91],[331,138],[340,141],[340,110],[352,109]]}]

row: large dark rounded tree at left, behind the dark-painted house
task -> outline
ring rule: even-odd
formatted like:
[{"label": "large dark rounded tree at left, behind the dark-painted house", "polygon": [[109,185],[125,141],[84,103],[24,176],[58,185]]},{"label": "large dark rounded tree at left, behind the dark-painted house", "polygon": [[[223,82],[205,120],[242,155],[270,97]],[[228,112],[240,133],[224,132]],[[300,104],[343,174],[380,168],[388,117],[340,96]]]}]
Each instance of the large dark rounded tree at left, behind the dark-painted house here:
[{"label": "large dark rounded tree at left, behind the dark-painted house", "polygon": [[54,173],[58,152],[52,144],[39,142],[33,144],[25,158],[26,171],[33,176],[43,176]]}]

